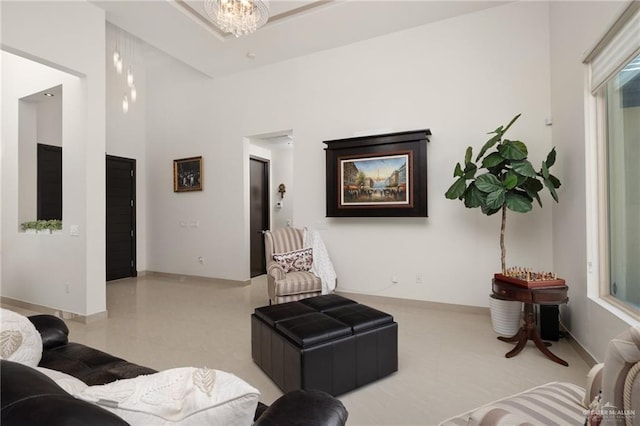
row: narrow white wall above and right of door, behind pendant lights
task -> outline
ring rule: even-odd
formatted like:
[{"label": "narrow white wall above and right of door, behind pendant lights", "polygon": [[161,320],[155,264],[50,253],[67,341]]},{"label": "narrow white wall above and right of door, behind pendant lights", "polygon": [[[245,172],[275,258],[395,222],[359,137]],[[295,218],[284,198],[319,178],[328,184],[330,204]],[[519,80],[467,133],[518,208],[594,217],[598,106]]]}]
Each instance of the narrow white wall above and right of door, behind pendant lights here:
[{"label": "narrow white wall above and right of door, behind pendant lights", "polygon": [[[136,102],[131,101],[130,89],[126,84],[126,66],[123,74],[118,74],[113,66],[113,50],[116,40],[121,47],[125,63],[133,65],[134,83],[137,91]],[[125,44],[126,43],[126,44]],[[116,157],[136,160],[136,266],[138,271],[147,270],[147,87],[146,68],[142,52],[136,39],[122,30],[107,25],[106,36],[106,153]],[[122,111],[122,97],[129,94],[129,111]],[[165,100],[166,101],[166,100]]]}]

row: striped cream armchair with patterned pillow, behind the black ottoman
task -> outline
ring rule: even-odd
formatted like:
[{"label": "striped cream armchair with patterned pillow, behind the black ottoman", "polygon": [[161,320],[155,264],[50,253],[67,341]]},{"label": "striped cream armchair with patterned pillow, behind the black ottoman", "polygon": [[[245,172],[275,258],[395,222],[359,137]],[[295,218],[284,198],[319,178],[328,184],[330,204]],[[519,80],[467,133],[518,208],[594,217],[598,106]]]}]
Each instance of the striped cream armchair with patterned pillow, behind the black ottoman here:
[{"label": "striped cream armchair with patterned pillow, behind the black ottoman", "polygon": [[322,281],[309,271],[311,249],[303,247],[304,231],[281,228],[264,234],[269,303],[292,302],[322,294]]}]

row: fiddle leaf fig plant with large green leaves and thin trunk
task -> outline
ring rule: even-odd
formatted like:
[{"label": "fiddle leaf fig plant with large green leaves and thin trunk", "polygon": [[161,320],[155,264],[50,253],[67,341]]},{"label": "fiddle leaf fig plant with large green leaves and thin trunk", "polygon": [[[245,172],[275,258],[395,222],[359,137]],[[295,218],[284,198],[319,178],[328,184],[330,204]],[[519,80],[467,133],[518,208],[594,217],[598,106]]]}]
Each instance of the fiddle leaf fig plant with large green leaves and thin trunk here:
[{"label": "fiddle leaf fig plant with large green leaves and thin trunk", "polygon": [[445,194],[448,199],[461,200],[467,208],[479,207],[487,216],[502,212],[500,265],[503,273],[506,269],[504,233],[507,209],[526,213],[533,209],[534,200],[542,207],[539,193],[545,187],[558,202],[556,189],[561,185],[560,180],[549,172],[556,162],[555,148],[547,154],[540,169],[536,171],[527,159],[527,145],[522,141],[504,138],[504,134],[519,117],[520,114],[506,126],[490,132],[493,136],[482,146],[475,160],[473,149],[467,148],[464,164],[457,163],[453,171],[456,181]]}]

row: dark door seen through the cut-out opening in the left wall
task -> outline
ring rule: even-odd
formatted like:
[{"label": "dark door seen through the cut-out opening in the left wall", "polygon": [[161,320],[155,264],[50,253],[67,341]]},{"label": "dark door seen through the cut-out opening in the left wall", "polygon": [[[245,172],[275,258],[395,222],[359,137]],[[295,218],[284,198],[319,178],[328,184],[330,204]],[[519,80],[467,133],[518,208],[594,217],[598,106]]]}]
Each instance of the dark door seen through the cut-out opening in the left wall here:
[{"label": "dark door seen through the cut-out opening in the left wall", "polygon": [[38,144],[38,220],[62,220],[62,147]]}]

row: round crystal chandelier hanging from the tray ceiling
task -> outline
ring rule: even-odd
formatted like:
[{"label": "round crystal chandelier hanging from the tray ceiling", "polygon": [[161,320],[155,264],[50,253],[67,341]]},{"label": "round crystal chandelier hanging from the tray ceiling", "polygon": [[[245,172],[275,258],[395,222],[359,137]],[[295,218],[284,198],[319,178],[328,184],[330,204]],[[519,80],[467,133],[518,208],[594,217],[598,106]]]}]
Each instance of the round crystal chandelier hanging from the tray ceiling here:
[{"label": "round crystal chandelier hanging from the tray ceiling", "polygon": [[267,23],[269,0],[205,0],[204,10],[222,31],[240,37]]}]

